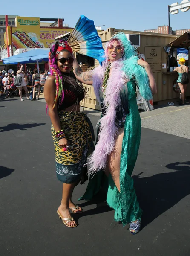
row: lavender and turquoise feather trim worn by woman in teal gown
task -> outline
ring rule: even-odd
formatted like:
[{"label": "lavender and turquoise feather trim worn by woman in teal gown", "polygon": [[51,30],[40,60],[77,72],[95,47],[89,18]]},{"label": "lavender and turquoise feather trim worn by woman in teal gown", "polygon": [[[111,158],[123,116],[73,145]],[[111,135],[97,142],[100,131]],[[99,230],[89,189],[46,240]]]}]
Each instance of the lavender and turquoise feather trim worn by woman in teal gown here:
[{"label": "lavender and turquoise feather trim worn by woman in teal gown", "polygon": [[[115,147],[115,136],[118,132],[118,128],[115,125],[116,109],[119,109],[121,106],[120,91],[124,85],[130,79],[135,79],[141,96],[147,100],[152,99],[147,72],[143,67],[138,65],[138,57],[135,56],[134,47],[132,47],[123,32],[115,33],[112,38],[116,38],[121,42],[124,48],[124,54],[122,59],[114,61],[111,64],[111,72],[107,80],[103,100],[104,106],[106,106],[106,114],[98,122],[100,126],[98,143],[89,160],[89,173],[91,174],[106,168],[107,156]],[[103,83],[107,66],[109,65],[108,56],[105,55],[104,57],[102,66],[95,68],[93,71],[93,87],[99,102],[100,87]]]}]

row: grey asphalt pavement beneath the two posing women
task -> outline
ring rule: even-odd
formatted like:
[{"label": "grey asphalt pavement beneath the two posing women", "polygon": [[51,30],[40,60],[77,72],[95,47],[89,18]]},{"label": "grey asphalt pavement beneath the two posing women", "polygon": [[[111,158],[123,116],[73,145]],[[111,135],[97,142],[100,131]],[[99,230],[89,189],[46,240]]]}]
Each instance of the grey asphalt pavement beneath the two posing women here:
[{"label": "grey asphalt pavement beneath the two posing women", "polygon": [[[100,112],[85,112],[95,127]],[[79,202],[84,212],[73,216],[79,225],[71,229],[56,212],[62,183],[44,101],[0,97],[0,256],[189,256],[190,105],[141,118],[132,174],[144,210],[141,232],[132,236],[116,223],[101,195]],[[86,185],[76,187],[75,203]]]}]

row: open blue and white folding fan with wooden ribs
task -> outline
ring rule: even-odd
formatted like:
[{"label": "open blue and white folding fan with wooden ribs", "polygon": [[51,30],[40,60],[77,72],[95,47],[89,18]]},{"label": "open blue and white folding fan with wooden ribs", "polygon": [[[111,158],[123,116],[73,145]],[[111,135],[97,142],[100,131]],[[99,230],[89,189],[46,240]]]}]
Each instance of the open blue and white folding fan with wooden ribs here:
[{"label": "open blue and white folding fan with wooden ribs", "polygon": [[68,39],[68,44],[74,52],[95,58],[100,64],[104,60],[104,49],[101,38],[95,28],[94,21],[81,15]]}]

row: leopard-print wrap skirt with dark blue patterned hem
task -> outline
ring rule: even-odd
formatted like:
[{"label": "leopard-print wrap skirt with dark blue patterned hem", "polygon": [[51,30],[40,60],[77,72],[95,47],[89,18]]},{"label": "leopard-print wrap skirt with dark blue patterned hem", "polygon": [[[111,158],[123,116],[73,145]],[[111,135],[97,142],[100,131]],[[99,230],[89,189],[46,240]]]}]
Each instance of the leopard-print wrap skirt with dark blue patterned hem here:
[{"label": "leopard-print wrap skirt with dark blue patterned hem", "polygon": [[62,151],[52,125],[52,137],[55,146],[55,163],[57,177],[63,183],[74,183],[81,180],[87,167],[83,167],[86,158],[92,153],[92,124],[84,112],[58,112],[61,129],[69,141],[68,151]]}]

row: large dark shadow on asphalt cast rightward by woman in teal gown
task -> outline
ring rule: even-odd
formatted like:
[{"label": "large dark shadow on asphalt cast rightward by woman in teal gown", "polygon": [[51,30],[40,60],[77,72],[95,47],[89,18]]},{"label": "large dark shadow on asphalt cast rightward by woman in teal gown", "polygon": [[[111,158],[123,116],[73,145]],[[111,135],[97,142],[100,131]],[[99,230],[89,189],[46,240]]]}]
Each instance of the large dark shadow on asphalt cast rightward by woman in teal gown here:
[{"label": "large dark shadow on asphalt cast rightward by woman in teal gown", "polygon": [[176,172],[133,176],[138,201],[144,211],[142,227],[190,194],[190,161],[170,163],[166,167]]}]

